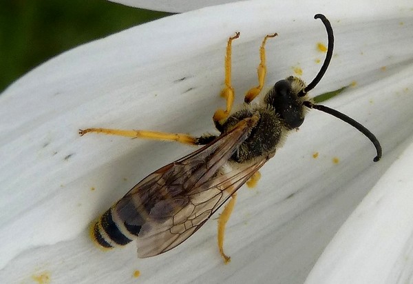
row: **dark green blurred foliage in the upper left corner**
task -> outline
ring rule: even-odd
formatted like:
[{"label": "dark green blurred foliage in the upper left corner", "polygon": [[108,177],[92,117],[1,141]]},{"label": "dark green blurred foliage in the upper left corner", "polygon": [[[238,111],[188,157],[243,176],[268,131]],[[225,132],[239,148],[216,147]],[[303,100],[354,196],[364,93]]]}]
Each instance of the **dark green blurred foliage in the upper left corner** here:
[{"label": "dark green blurred foliage in the upper left corner", "polygon": [[168,15],[105,0],[1,0],[0,92],[56,54]]}]

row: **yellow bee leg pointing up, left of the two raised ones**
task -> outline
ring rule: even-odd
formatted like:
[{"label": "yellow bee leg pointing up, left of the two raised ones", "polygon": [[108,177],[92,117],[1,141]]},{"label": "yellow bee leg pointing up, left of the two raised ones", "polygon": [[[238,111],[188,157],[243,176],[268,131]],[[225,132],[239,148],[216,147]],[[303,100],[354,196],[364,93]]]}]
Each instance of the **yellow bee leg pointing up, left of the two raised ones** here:
[{"label": "yellow bee leg pointing up, left of the two raised ones", "polygon": [[235,36],[230,37],[228,43],[226,44],[226,56],[225,56],[225,87],[221,92],[221,97],[226,99],[226,110],[217,110],[213,114],[213,121],[222,121],[229,116],[231,108],[234,102],[234,89],[231,85],[231,52],[232,52],[232,41],[240,37],[240,32],[237,32]]}]

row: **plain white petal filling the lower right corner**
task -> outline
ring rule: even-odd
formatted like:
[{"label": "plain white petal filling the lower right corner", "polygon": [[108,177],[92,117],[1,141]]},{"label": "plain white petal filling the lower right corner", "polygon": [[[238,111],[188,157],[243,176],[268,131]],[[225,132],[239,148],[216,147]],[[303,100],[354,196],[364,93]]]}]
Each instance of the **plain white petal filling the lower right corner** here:
[{"label": "plain white petal filling the lower right corner", "polygon": [[411,283],[413,138],[357,207],[306,283]]}]

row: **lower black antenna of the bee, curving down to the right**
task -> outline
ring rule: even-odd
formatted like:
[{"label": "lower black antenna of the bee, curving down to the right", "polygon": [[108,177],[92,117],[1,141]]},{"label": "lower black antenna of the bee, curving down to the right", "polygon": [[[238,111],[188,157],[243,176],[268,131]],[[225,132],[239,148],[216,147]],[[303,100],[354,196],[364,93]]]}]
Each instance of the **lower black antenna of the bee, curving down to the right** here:
[{"label": "lower black antenna of the bee, curving down to the right", "polygon": [[331,114],[332,116],[337,117],[337,119],[341,119],[342,121],[352,125],[352,127],[357,128],[359,132],[366,135],[367,138],[372,141],[374,147],[376,148],[377,156],[373,159],[373,161],[377,162],[381,159],[381,145],[379,143],[379,140],[377,140],[376,136],[374,136],[374,134],[372,134],[372,132],[370,132],[370,130],[365,128],[363,125],[352,119],[350,116],[346,116],[346,114],[343,114],[337,110],[333,110],[332,108],[328,108],[325,105],[315,105],[310,101],[304,101],[303,105],[305,105],[307,108],[313,108],[315,110],[321,110],[321,112]]}]

